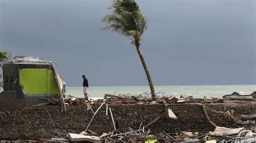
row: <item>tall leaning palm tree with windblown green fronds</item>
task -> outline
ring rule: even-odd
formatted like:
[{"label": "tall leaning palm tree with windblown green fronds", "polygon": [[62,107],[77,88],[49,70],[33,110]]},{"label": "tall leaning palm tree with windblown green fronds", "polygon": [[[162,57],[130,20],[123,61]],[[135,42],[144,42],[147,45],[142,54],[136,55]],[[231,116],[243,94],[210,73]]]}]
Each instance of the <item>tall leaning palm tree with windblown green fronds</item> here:
[{"label": "tall leaning palm tree with windblown green fronds", "polygon": [[114,0],[109,9],[112,10],[112,14],[106,15],[102,19],[103,22],[109,25],[100,28],[100,30],[111,30],[132,40],[131,44],[136,46],[147,80],[149,81],[152,98],[155,99],[156,94],[151,76],[142,51],[140,51],[140,40],[142,39],[142,34],[147,29],[146,17],[139,10],[139,5],[134,0]]}]

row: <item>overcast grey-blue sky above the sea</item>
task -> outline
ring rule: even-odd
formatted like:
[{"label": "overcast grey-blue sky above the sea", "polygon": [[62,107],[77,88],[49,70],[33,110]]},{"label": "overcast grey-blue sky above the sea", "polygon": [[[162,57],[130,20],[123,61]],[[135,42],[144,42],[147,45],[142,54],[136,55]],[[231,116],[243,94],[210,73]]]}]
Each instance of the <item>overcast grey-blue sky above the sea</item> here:
[{"label": "overcast grey-blue sky above the sea", "polygon": [[[154,85],[256,84],[254,0],[138,0]],[[107,0],[0,0],[0,51],[57,61],[67,87],[148,85],[129,38],[100,31]]]}]

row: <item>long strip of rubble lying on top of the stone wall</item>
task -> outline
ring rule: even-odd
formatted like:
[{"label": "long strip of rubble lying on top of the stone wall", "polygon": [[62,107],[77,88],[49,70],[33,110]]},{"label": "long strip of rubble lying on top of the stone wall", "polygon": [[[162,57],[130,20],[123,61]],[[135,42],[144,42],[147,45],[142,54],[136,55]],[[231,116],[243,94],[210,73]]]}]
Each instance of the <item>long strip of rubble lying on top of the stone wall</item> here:
[{"label": "long strip of rubble lying on top of the stone wall", "polygon": [[[253,103],[256,101],[255,97],[256,91],[254,91],[251,95],[240,95],[237,92],[233,92],[231,95],[225,95],[223,98],[214,98],[207,99],[206,96],[203,98],[193,98],[193,96],[183,96],[179,97],[173,95],[167,95],[164,91],[158,91],[156,93],[156,99],[152,99],[151,92],[144,92],[140,95],[133,94],[119,94],[119,95],[110,95],[105,94],[104,98],[98,99],[85,99],[79,98],[71,95],[64,95],[65,105],[87,105],[91,106],[93,104],[101,104],[106,102],[107,104],[114,105],[122,105],[122,104],[185,104],[185,103],[201,103],[201,104],[209,104],[209,103]],[[62,104],[62,100],[60,98],[45,98],[46,103],[30,105],[26,104],[26,107],[37,108],[45,105],[60,105]]]}]

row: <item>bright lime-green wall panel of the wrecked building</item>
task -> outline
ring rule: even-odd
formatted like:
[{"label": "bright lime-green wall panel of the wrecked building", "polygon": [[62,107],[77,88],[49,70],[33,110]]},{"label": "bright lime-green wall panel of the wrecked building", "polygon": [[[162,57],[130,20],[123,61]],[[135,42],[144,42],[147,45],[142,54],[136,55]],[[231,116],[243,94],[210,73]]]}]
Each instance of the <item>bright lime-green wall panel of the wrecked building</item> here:
[{"label": "bright lime-green wall panel of the wrecked building", "polygon": [[21,69],[19,84],[24,86],[26,94],[57,94],[57,83],[52,70]]}]

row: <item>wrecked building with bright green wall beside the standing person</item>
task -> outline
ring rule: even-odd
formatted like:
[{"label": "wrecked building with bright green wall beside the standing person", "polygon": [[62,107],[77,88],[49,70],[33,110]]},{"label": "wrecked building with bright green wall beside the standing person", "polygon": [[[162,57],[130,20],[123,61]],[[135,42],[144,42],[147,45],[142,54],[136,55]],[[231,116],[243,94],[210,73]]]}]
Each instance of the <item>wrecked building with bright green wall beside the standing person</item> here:
[{"label": "wrecked building with bright green wall beside the standing person", "polygon": [[65,93],[65,82],[51,61],[13,56],[3,59],[1,67],[4,92],[16,91],[17,99],[25,99],[26,104],[45,103],[49,98],[58,99]]}]

